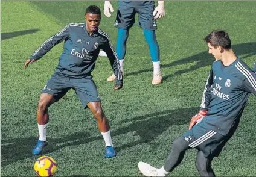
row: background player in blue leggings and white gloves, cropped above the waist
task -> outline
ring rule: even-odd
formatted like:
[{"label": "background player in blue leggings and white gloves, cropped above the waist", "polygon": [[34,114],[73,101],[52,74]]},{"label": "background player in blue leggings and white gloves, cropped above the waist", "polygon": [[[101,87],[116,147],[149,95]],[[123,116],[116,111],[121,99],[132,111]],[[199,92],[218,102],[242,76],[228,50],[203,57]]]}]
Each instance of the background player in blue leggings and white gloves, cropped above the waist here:
[{"label": "background player in blue leggings and white gloves, cropped above the waist", "polygon": [[[110,11],[113,12],[113,7],[110,1],[105,1],[104,14],[110,17]],[[152,84],[160,84],[162,75],[160,71],[160,54],[159,46],[156,40],[155,30],[156,19],[164,17],[164,1],[158,1],[158,6],[155,8],[154,1],[118,1],[117,17],[115,27],[118,28],[117,37],[117,55],[121,70],[124,68],[124,57],[126,55],[126,41],[129,36],[129,30],[135,23],[135,14],[138,13],[138,24],[143,29],[144,37],[149,45],[150,56],[153,62],[153,79]],[[107,81],[114,81],[115,73],[107,78]]]}]

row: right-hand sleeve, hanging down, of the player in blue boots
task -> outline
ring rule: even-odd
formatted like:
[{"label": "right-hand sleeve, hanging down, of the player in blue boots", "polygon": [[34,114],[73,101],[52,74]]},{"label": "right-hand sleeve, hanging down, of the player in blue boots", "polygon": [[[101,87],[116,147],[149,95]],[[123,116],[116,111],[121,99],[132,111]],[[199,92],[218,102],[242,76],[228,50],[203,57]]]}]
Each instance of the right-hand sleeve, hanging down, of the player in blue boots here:
[{"label": "right-hand sleeve, hanging down, of the player in blue boots", "polygon": [[109,39],[106,40],[102,49],[104,52],[106,52],[107,57],[109,58],[109,61],[110,61],[110,65],[113,69],[115,76],[117,76],[117,79],[120,81],[123,80],[123,74],[121,72],[121,67],[119,65],[117,53],[115,52],[113,45]]}]

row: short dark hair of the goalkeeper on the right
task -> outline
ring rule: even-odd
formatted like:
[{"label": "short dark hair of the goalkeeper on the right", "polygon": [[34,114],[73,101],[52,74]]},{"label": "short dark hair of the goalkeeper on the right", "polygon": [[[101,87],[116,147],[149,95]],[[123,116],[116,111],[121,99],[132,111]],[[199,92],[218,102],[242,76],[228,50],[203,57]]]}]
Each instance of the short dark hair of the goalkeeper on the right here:
[{"label": "short dark hair of the goalkeeper on the right", "polygon": [[221,46],[224,49],[231,49],[231,40],[225,30],[213,30],[203,40],[210,43],[214,48]]}]

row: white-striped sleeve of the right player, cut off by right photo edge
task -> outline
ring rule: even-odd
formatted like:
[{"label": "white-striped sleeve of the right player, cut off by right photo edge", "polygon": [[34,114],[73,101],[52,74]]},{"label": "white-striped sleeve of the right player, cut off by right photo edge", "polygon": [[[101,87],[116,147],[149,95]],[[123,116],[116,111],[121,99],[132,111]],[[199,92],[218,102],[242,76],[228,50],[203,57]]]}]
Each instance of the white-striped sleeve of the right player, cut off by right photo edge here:
[{"label": "white-striped sleeve of the right player, cut off by right photo edge", "polygon": [[256,95],[256,73],[253,70],[245,70],[246,79],[243,81],[243,90]]}]

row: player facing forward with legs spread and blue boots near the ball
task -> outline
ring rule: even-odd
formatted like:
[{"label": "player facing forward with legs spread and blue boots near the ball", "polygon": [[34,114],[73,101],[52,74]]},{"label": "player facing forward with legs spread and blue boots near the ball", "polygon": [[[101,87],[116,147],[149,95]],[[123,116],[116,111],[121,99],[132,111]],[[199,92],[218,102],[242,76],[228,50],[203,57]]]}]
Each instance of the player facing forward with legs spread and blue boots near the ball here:
[{"label": "player facing forward with legs spread and blue boots near the ball", "polygon": [[54,102],[59,101],[68,90],[73,89],[83,107],[89,107],[97,120],[98,128],[106,143],[106,157],[115,156],[109,121],[101,108],[97,87],[91,76],[100,49],[106,52],[113,72],[117,75],[115,90],[123,86],[123,76],[109,36],[98,28],[100,20],[100,8],[95,5],[89,6],[85,13],[85,23],[70,23],[55,36],[46,40],[25,62],[24,67],[26,69],[28,64],[42,58],[53,46],[63,40],[65,41],[64,51],[59,58],[59,65],[56,67],[54,75],[43,87],[39,99],[37,107],[39,140],[32,151],[33,155],[42,152],[43,147],[48,144],[46,141],[46,127],[49,120],[48,108]]}]

